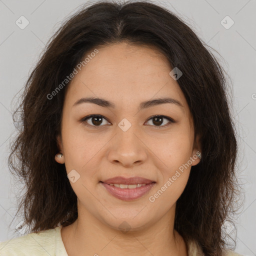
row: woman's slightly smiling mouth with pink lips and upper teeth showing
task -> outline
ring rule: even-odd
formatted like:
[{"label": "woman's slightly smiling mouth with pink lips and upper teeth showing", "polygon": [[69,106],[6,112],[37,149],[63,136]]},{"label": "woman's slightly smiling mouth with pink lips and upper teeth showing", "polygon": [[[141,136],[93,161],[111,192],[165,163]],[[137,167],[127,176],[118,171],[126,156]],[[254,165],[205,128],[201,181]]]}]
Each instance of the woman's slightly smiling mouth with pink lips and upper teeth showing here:
[{"label": "woman's slightly smiling mouth with pink lips and upper teeth showing", "polygon": [[142,197],[149,192],[155,183],[155,181],[142,177],[124,178],[120,176],[100,181],[100,184],[109,194],[125,201]]}]

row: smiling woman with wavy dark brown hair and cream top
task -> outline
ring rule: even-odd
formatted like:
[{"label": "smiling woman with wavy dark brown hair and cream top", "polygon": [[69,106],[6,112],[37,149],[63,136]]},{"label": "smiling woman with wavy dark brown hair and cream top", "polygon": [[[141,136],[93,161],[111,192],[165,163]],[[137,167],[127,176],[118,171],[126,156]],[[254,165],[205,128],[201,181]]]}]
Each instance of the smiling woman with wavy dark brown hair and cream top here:
[{"label": "smiling woman with wavy dark brown hair and cream top", "polygon": [[25,180],[18,210],[32,233],[0,255],[238,255],[221,229],[237,186],[226,89],[169,10],[77,12],[26,83],[9,165]]}]

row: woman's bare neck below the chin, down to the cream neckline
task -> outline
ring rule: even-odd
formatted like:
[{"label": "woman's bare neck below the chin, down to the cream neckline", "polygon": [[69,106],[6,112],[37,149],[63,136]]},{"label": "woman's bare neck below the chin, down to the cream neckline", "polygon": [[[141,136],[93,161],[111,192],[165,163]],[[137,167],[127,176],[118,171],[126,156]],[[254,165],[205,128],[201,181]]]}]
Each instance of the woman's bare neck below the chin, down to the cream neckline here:
[{"label": "woman's bare neck below the chin, down to the cream neckline", "polygon": [[[78,212],[79,213],[79,212]],[[84,211],[83,211],[84,213]],[[78,214],[78,218],[69,226],[62,227],[61,236],[69,256],[84,255],[187,255],[183,238],[173,229],[173,211],[169,210],[156,223],[134,230],[127,222],[124,228],[117,230],[105,225],[89,214]],[[174,219],[174,218],[173,218]],[[126,226],[125,226],[126,225]],[[130,228],[130,229],[129,229]]]}]

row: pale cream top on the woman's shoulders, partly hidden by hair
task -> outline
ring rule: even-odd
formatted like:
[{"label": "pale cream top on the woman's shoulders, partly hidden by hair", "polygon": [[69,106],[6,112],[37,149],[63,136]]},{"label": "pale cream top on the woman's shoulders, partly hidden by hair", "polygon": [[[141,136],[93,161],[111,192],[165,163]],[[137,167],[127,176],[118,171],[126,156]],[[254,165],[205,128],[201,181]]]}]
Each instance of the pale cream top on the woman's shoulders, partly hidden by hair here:
[{"label": "pale cream top on the woman's shoulders, partly hidden by hair", "polygon": [[[61,239],[62,226],[29,233],[0,242],[0,256],[68,256]],[[193,241],[188,243],[188,256],[201,256],[200,247]],[[224,256],[241,256],[226,249]]]}]

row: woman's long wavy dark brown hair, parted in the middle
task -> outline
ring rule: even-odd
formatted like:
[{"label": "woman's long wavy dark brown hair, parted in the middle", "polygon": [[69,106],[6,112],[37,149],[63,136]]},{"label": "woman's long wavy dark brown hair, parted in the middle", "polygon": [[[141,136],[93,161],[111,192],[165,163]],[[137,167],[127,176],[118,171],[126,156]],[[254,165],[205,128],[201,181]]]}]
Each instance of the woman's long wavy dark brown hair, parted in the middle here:
[{"label": "woman's long wavy dark brown hair, parted in the middle", "polygon": [[196,240],[205,255],[221,255],[227,245],[221,225],[235,211],[238,194],[237,142],[224,71],[184,21],[148,1],[86,5],[50,38],[12,117],[15,123],[21,112],[21,128],[8,158],[11,172],[26,188],[17,212],[23,209],[24,222],[36,232],[77,218],[77,198],[65,166],[54,159],[69,83],[51,99],[47,95],[91,49],[122,41],[157,47],[183,73],[177,81],[191,111],[194,135],[200,137],[202,159],[191,167],[177,200],[174,228],[186,241]]}]

